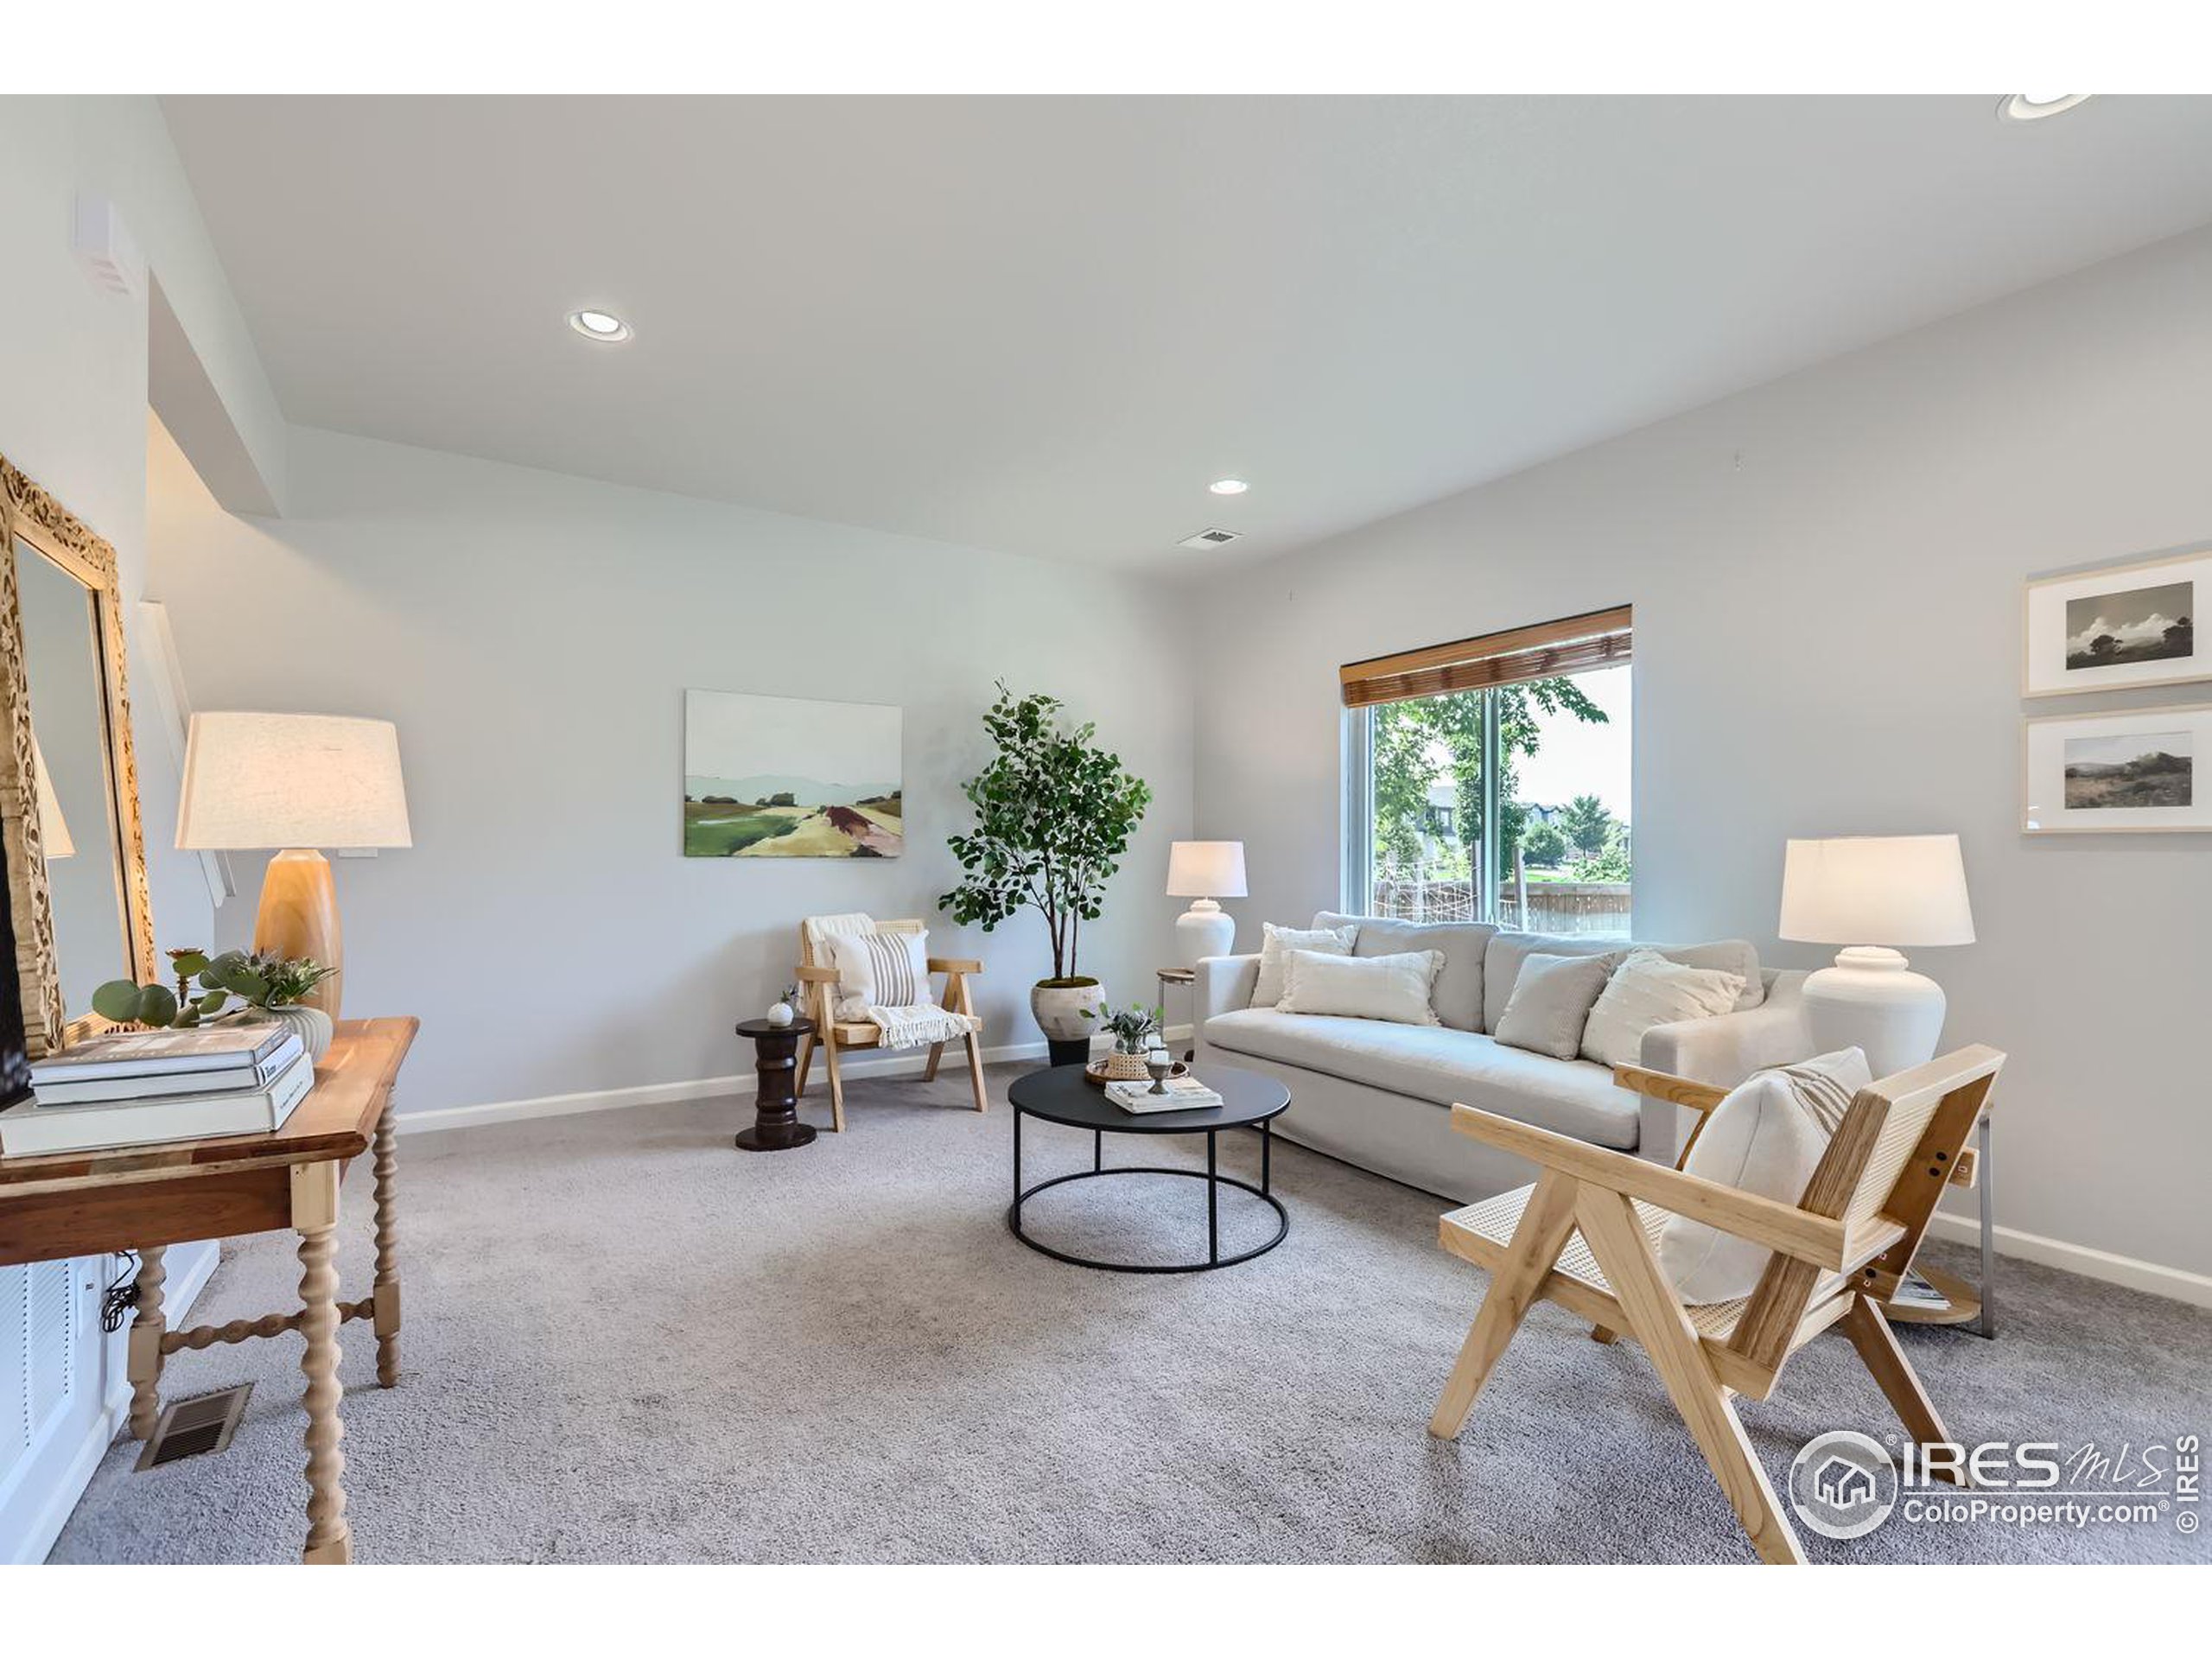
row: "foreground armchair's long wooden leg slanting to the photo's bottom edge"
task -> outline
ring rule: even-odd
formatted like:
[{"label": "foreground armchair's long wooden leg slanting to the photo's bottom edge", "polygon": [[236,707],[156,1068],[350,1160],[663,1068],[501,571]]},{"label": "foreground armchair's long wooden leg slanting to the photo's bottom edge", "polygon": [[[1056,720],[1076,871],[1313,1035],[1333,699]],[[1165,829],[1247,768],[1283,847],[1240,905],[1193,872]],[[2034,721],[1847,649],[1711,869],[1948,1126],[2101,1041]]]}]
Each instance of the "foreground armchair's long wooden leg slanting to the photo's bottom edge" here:
[{"label": "foreground armchair's long wooden leg slanting to the photo's bottom edge", "polygon": [[1584,1186],[1575,1201],[1575,1223],[1628,1314],[1628,1329],[1652,1356],[1674,1409],[1743,1522],[1752,1548],[1763,1562],[1803,1564],[1805,1551],[1774,1500],[1774,1486],[1743,1433],[1728,1389],[1705,1363],[1690,1316],[1652,1256],[1635,1208],[1619,1192]]}]

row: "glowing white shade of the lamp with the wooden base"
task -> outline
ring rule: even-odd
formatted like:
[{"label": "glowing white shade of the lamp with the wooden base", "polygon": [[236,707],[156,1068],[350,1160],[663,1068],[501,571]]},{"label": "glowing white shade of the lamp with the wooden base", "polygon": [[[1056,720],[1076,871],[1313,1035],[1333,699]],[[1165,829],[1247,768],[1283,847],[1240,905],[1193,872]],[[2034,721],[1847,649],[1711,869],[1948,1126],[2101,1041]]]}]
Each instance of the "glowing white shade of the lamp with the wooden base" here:
[{"label": "glowing white shade of the lamp with the wooden base", "polygon": [[411,847],[398,728],[336,714],[192,714],[177,845]]}]

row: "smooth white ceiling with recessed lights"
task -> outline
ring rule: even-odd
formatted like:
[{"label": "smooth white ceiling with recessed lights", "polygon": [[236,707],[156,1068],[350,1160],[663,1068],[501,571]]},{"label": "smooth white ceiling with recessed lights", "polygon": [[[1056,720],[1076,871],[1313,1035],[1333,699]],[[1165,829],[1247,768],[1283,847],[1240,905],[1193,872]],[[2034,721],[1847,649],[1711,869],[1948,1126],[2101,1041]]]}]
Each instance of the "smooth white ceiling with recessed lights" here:
[{"label": "smooth white ceiling with recessed lights", "polygon": [[[2212,100],[175,97],[285,414],[1274,553],[2212,221]],[[580,305],[635,341],[577,338]],[[1223,500],[1208,480],[1241,476]],[[1232,551],[1166,553],[1223,524]]]}]

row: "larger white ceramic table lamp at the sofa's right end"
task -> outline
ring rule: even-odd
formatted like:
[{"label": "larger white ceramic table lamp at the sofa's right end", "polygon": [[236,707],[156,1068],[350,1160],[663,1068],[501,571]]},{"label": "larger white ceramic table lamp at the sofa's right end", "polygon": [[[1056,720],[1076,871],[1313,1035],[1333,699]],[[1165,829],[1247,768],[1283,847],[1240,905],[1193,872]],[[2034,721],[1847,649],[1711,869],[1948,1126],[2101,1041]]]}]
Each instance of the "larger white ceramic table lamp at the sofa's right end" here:
[{"label": "larger white ceramic table lamp at the sofa's right end", "polygon": [[1805,980],[1816,1053],[1867,1051],[1876,1077],[1936,1057],[1942,987],[1913,973],[1898,945],[1973,945],[1958,836],[1792,841],[1783,858],[1781,936],[1843,945]]}]

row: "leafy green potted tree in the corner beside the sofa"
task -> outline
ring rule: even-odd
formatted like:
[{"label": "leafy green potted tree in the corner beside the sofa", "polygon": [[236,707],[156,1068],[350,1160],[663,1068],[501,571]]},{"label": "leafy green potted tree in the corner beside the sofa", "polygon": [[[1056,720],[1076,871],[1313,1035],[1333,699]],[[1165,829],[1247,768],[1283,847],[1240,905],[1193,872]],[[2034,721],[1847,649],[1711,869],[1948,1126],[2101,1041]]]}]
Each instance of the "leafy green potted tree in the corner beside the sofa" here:
[{"label": "leafy green potted tree in the corner beside the sofa", "polygon": [[1060,728],[1060,699],[1015,697],[1004,681],[982,717],[998,759],[967,781],[975,827],[951,836],[967,874],[938,900],[956,922],[989,933],[1035,907],[1053,936],[1053,975],[1037,980],[1029,1009],[1055,1066],[1079,1066],[1097,1024],[1097,980],[1075,971],[1084,922],[1106,900],[1106,878],[1128,852],[1152,792],[1119,754],[1093,743],[1091,726]]}]

